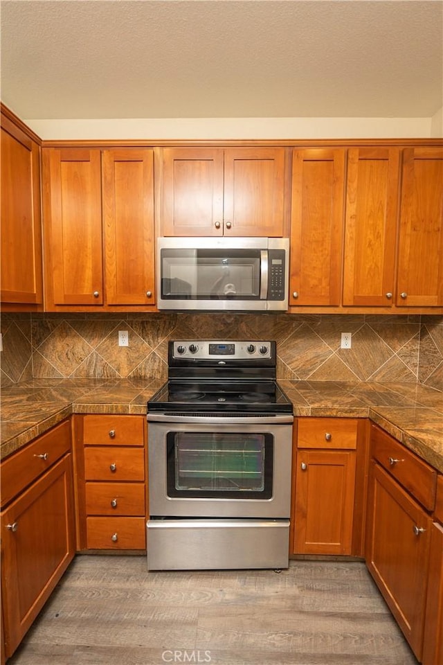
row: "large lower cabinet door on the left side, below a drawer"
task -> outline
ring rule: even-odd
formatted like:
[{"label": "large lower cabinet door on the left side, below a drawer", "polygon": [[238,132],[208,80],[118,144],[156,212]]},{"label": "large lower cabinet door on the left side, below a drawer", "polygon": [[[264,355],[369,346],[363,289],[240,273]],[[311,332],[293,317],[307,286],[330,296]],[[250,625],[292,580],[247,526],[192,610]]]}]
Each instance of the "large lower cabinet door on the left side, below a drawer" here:
[{"label": "large lower cabinet door on the left side, below a drawer", "polygon": [[74,556],[70,454],[2,513],[1,555],[9,657]]}]

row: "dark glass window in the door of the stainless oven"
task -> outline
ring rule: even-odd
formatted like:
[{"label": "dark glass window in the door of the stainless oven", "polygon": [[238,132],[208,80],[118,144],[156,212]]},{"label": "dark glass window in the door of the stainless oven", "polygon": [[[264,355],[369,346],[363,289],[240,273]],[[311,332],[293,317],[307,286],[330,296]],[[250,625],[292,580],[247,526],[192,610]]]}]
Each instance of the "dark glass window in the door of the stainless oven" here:
[{"label": "dark glass window in the door of the stainless oven", "polygon": [[267,432],[168,432],[168,496],[270,499],[273,441]]}]

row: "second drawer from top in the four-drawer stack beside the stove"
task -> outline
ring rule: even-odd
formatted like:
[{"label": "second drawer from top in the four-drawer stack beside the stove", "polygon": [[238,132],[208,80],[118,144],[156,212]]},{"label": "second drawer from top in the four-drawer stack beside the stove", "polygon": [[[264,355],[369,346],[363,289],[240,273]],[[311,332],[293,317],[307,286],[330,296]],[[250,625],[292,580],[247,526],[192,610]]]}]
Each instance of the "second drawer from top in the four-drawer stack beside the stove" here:
[{"label": "second drawer from top in the four-drawer stack beside the stove", "polygon": [[89,446],[84,449],[85,480],[145,479],[143,448]]}]

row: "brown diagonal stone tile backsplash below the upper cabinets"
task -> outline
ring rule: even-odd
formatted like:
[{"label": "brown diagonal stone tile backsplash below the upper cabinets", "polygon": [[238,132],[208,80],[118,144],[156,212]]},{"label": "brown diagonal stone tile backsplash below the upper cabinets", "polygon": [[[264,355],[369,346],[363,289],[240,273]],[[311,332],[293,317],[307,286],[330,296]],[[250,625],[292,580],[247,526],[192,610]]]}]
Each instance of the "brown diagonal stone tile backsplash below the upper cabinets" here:
[{"label": "brown diagonal stone tile backsplash below the upper cabinets", "polygon": [[[118,346],[118,330],[129,346]],[[443,317],[325,314],[2,314],[3,387],[29,378],[166,378],[169,339],[275,339],[280,379],[443,390]],[[352,348],[341,349],[341,332]]]}]

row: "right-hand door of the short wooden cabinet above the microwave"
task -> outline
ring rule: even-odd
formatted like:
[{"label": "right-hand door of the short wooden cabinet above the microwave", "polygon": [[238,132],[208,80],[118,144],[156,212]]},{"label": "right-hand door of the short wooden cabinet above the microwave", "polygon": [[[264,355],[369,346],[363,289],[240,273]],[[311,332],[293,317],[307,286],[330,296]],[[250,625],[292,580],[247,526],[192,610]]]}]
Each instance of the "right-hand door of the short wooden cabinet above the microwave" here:
[{"label": "right-hand door of the short wooden cabinet above the microwave", "polygon": [[282,237],[284,149],[224,151],[224,235]]}]

